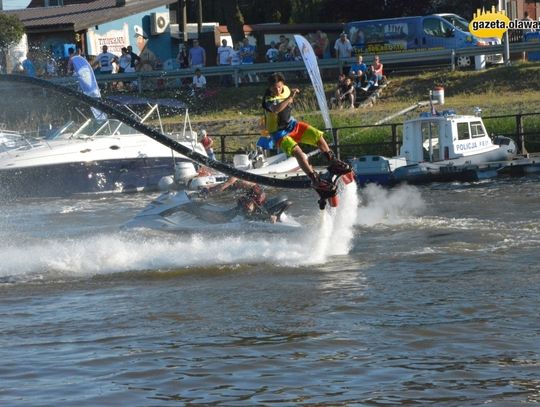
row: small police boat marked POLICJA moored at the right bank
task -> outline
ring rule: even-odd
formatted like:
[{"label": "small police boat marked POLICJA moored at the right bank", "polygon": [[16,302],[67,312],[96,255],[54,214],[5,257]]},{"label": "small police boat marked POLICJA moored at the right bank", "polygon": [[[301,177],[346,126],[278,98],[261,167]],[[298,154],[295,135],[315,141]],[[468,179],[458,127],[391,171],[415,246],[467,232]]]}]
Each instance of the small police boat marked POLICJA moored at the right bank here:
[{"label": "small police boat marked POLICJA moored at the right bank", "polygon": [[448,110],[406,120],[399,156],[364,156],[351,164],[361,185],[474,181],[496,173],[496,163],[504,166],[516,151],[512,139],[492,139],[480,116]]}]

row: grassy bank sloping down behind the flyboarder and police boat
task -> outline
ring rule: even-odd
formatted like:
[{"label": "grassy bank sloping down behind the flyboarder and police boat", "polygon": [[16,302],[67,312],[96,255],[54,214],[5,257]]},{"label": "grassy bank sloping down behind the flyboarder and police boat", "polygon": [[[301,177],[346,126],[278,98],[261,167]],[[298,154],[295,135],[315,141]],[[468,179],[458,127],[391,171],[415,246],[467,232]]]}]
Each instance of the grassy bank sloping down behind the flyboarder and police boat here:
[{"label": "grassy bank sloping down behind the flyboarder and police boat", "polygon": [[[383,90],[377,103],[350,110],[332,110],[331,118],[335,128],[371,125],[378,120],[398,112],[418,101],[428,100],[430,89],[443,86],[445,106],[457,113],[472,114],[476,107],[482,115],[495,116],[540,112],[540,64],[514,63],[513,66],[495,66],[483,71],[439,70],[416,75],[389,75],[389,84]],[[306,81],[289,80],[289,85],[298,86],[302,93],[297,98],[294,115],[316,127],[324,124],[311,84]],[[326,81],[325,90],[329,97],[334,91],[335,81]],[[191,120],[194,128],[206,128],[210,134],[258,134],[261,117],[261,96],[265,84],[249,84],[238,88],[219,89],[211,100],[195,104]],[[163,97],[163,95],[161,95]],[[172,94],[181,98],[181,95]],[[409,115],[417,115],[414,111]],[[401,123],[404,117],[392,119]],[[173,124],[177,117],[166,119]],[[527,118],[527,131],[540,133],[540,119]],[[514,132],[515,120],[487,120],[490,133],[509,134]],[[350,129],[341,132],[342,142],[366,143],[388,140],[389,129]]]}]

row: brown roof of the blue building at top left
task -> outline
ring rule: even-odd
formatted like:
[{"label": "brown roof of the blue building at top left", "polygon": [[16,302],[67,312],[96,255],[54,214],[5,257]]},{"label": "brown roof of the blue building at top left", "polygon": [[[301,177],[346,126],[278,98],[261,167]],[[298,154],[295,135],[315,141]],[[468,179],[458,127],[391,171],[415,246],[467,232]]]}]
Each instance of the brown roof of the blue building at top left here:
[{"label": "brown roof of the blue building at top left", "polygon": [[125,5],[117,5],[124,2],[97,0],[63,7],[33,7],[6,13],[19,17],[27,32],[82,31],[95,25],[175,2],[175,0],[127,0]]}]

